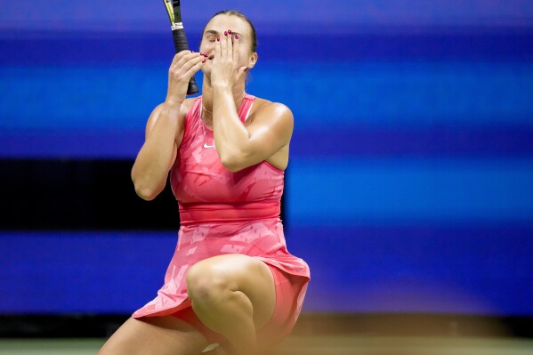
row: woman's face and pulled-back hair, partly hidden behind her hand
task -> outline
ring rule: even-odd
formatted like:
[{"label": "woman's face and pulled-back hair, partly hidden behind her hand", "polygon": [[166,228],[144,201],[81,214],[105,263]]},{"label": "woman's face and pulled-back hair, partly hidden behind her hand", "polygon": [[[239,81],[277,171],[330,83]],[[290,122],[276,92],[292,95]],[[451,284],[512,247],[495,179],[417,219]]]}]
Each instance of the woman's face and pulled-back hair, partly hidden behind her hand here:
[{"label": "woman's face and pulled-back hair, partly hidden behind her hand", "polygon": [[[214,58],[214,45],[219,44],[216,41],[217,37],[221,40],[224,37],[224,31],[231,30],[232,39],[238,36],[238,67],[254,67],[257,61],[257,53],[252,52],[252,38],[250,34],[250,27],[246,20],[240,19],[235,15],[221,14],[211,19],[204,29],[202,35],[202,42],[200,43],[200,52],[208,55],[208,60],[202,70],[204,73],[211,72],[211,62]],[[230,35],[228,35],[230,36]]]}]

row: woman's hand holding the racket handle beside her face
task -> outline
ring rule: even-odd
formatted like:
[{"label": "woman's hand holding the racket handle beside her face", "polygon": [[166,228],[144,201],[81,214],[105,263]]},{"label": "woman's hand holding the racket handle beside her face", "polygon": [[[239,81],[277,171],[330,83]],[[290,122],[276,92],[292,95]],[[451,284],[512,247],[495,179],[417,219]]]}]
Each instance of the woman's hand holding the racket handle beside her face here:
[{"label": "woman's hand holding the racket handle beside her face", "polygon": [[174,55],[168,69],[167,104],[181,105],[185,101],[190,78],[202,69],[205,63],[206,57],[201,53],[185,50]]}]

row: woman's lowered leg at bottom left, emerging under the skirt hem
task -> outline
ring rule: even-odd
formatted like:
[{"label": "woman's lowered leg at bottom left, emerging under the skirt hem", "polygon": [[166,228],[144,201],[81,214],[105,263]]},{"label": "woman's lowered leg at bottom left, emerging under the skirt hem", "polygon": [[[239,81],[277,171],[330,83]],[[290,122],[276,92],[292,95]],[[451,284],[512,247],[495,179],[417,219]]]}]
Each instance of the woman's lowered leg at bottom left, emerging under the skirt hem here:
[{"label": "woman's lowered leg at bottom left, emerging under the skirt hem", "polygon": [[98,355],[198,355],[204,335],[172,316],[127,319],[104,343]]}]

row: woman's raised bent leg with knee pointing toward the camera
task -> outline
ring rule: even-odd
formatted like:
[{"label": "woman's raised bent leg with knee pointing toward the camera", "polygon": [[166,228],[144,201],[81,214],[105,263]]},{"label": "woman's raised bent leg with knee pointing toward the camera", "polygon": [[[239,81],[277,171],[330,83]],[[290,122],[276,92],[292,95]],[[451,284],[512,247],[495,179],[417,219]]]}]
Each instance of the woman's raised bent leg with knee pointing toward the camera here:
[{"label": "woman's raised bent leg with knee pointing toward the camera", "polygon": [[259,351],[255,331],[276,306],[274,279],[264,262],[243,254],[214,256],[190,268],[187,289],[198,318],[224,335],[238,355]]}]

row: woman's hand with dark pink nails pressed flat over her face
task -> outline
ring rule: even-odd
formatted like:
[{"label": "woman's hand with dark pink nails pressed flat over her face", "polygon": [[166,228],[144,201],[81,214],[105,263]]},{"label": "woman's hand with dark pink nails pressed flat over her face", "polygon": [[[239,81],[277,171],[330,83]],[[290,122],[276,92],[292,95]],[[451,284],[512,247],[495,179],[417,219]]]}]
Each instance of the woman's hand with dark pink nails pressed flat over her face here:
[{"label": "woman's hand with dark pink nails pressed flat over her face", "polygon": [[216,38],[211,69],[211,85],[232,87],[246,69],[246,66],[239,66],[238,36],[231,36],[229,29],[224,32],[224,36]]}]

